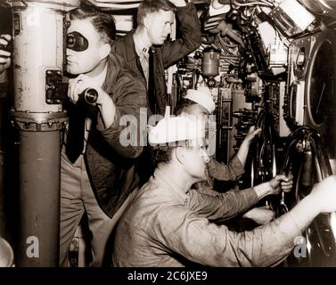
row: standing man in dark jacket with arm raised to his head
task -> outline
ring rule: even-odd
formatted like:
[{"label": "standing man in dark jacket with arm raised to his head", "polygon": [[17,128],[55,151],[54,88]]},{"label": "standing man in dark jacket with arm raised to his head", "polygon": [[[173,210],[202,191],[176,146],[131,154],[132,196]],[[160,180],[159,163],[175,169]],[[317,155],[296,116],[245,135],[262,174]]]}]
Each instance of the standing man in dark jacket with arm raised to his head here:
[{"label": "standing man in dark jacket with arm raised to his head", "polygon": [[[174,23],[180,23],[181,38],[166,41]],[[148,87],[148,106],[164,115],[170,104],[165,69],[201,45],[200,21],[194,4],[184,0],[143,0],[137,10],[137,27],[112,47]],[[152,55],[151,55],[152,53]]]}]

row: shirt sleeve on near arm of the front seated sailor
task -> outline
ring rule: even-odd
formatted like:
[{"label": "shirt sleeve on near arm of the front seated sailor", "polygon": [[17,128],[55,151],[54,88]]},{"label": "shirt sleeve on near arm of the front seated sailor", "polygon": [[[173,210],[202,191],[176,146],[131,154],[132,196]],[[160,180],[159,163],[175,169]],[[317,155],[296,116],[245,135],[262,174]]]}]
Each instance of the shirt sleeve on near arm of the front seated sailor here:
[{"label": "shirt sleeve on near arm of the front seated sailor", "polygon": [[161,211],[152,227],[165,248],[209,266],[270,266],[279,263],[301,234],[289,215],[250,232],[231,232],[184,207]]}]

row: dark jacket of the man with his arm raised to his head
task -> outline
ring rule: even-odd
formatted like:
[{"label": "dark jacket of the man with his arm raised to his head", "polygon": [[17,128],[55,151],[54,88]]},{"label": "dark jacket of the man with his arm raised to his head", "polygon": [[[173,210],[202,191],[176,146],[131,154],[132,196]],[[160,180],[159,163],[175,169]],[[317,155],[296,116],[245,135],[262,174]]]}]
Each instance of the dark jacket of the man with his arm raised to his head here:
[{"label": "dark jacket of the man with his arm raised to his head", "polygon": [[[159,110],[152,110],[152,113],[159,112],[161,115],[165,113],[166,105],[169,104],[165,69],[168,69],[169,66],[175,64],[187,54],[192,53],[201,45],[200,21],[197,17],[195,6],[187,4],[185,7],[177,7],[176,18],[180,22],[182,37],[172,42],[166,42],[160,47],[153,47],[155,95],[157,100],[156,105],[159,107]],[[130,69],[135,71],[139,77],[142,77],[143,85],[147,86],[139,57],[135,52],[133,33],[134,31],[125,37],[121,37],[112,46],[112,52],[121,55],[127,61]]]}]

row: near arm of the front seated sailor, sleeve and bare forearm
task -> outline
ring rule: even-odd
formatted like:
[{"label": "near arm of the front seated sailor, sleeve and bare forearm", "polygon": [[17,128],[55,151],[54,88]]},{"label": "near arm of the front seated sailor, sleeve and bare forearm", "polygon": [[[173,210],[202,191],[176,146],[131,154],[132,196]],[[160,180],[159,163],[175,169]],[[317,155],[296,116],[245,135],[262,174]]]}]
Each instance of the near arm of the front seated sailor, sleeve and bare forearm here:
[{"label": "near arm of the front seated sailor, sleeve and bare forearm", "polygon": [[335,187],[336,175],[332,175],[290,212],[250,232],[230,232],[181,206],[162,208],[150,234],[165,248],[201,265],[276,265],[317,215],[335,212]]}]

